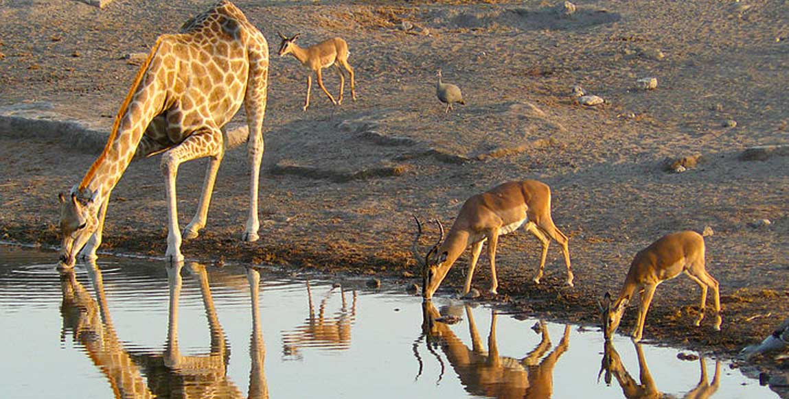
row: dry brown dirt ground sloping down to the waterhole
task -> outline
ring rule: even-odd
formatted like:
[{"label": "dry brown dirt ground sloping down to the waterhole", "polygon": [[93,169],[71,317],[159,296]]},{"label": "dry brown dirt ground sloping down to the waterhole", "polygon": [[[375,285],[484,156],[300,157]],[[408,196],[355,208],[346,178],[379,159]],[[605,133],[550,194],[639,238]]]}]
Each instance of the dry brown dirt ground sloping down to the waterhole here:
[{"label": "dry brown dirt ground sloping down to the waterhole", "polygon": [[[413,214],[451,224],[470,195],[540,179],[553,190],[553,219],[570,236],[576,286],[562,286],[558,246],[544,283],[533,284],[539,245],[518,231],[499,242],[501,294],[485,299],[596,324],[596,299],[619,290],[634,253],[668,232],[709,226],[723,330],[712,331],[711,317],[693,327],[698,289],[680,277],[658,289],[645,338],[727,357],[761,341],[789,308],[789,157],[739,155],[789,143],[787,2],[579,1],[571,17],[555,11],[558,3],[237,2],[272,49],[261,239],[239,240],[249,167],[245,151],[234,150],[219,171],[208,227],[185,243],[185,255],[417,282],[409,279],[419,274],[409,253]],[[122,57],[146,52],[157,35],[208,6],[0,2],[0,106],[48,102],[108,129],[137,68]],[[315,87],[302,112],[306,72],[274,54],[277,31],[301,32],[302,44],[345,38],[359,100],[334,107]],[[443,113],[438,68],[462,88],[465,107]],[[638,89],[636,80],[648,76],[657,88]],[[334,72],[326,82],[336,93]],[[578,105],[574,85],[606,102]],[[72,143],[57,132],[2,132],[0,239],[58,245],[57,194],[96,155]],[[664,171],[666,157],[697,153],[701,162],[686,172]],[[182,226],[203,169],[203,162],[181,168]],[[103,250],[161,256],[159,159],[132,164],[113,194]],[[751,226],[762,219],[772,224]],[[465,267],[466,257],[439,294],[462,284]],[[484,290],[488,270],[478,269],[475,286]],[[623,331],[635,313],[626,313]],[[755,362],[786,367],[772,357]]]}]

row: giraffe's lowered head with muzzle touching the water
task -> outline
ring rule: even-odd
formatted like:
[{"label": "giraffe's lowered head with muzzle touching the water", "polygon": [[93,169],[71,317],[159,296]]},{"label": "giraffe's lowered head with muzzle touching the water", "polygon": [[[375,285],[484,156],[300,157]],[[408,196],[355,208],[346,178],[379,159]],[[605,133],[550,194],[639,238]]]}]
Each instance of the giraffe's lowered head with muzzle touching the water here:
[{"label": "giraffe's lowered head with muzzle touching the water", "polygon": [[69,194],[60,193],[60,246],[61,268],[73,267],[77,253],[88,242],[99,225],[94,205],[95,194],[90,190],[71,190]]}]

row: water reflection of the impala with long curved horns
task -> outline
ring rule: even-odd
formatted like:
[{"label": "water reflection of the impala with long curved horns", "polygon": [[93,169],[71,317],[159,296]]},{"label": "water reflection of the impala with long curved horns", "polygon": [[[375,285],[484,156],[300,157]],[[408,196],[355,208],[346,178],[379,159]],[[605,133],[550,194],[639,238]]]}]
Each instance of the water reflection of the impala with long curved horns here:
[{"label": "water reflection of the impala with long curved horns", "polygon": [[[426,337],[428,350],[439,360],[442,367],[443,360],[435,353],[434,348],[439,347],[457,373],[466,391],[473,395],[497,398],[547,398],[553,393],[553,369],[559,357],[567,352],[570,346],[570,326],[564,327],[564,334],[559,345],[550,353],[551,338],[548,328],[540,320],[538,324],[540,343],[531,352],[521,359],[499,356],[499,347],[496,343],[496,312],[491,313],[491,327],[488,334],[488,351],[484,350],[482,339],[477,331],[477,324],[469,305],[465,305],[466,320],[469,323],[472,348],[469,349],[451,328],[440,321],[441,315],[432,305],[431,301],[422,304],[422,337]],[[420,363],[422,360],[417,349],[421,338],[414,343],[414,356]],[[544,356],[548,353],[547,356]],[[540,360],[541,359],[541,360]],[[419,375],[417,375],[417,379]]]}]

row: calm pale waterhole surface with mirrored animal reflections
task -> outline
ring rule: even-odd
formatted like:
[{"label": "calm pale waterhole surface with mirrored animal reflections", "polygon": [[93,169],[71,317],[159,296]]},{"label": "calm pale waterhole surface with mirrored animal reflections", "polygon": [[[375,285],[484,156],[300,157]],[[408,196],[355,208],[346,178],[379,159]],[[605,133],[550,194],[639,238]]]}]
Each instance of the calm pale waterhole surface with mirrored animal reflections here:
[{"label": "calm pale waterhole surface with mirrored animal reflections", "polygon": [[361,281],[55,258],[0,246],[4,398],[776,397],[679,349]]}]

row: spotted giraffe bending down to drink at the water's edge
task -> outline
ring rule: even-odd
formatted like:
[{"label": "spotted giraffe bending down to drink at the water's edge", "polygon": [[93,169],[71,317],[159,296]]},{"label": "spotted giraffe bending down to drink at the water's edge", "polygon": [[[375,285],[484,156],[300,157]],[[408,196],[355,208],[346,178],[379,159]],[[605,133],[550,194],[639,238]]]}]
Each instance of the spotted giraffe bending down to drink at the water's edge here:
[{"label": "spotted giraffe bending down to drink at the water's edge", "polygon": [[[58,195],[62,233],[58,267],[73,267],[77,257],[96,258],[110,192],[133,158],[158,153],[162,153],[168,206],[165,257],[183,260],[182,240],[196,238],[206,224],[226,146],[222,127],[242,103],[252,168],[243,240],[260,238],[257,201],[267,79],[266,39],[229,1],[222,0],[188,20],[180,33],[159,36],[115,116],[103,152],[81,183]],[[201,157],[208,157],[202,194],[196,215],[181,235],[175,191],[178,165]]]}]

